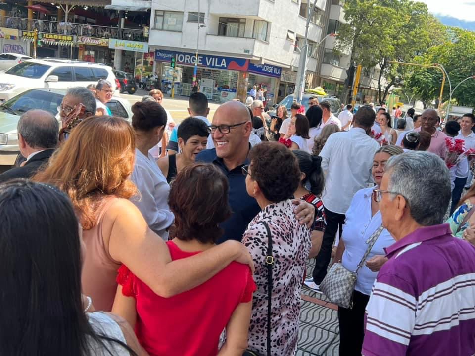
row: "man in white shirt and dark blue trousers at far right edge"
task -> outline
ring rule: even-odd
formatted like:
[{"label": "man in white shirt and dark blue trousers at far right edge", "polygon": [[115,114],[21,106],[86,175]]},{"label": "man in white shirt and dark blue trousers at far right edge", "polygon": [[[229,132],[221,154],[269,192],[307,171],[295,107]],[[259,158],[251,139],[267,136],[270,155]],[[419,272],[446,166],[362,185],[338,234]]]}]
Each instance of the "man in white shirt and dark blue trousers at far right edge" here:
[{"label": "man in white shirt and dark blue trousers at far right edge", "polygon": [[[465,144],[465,150],[475,149],[475,134],[472,131],[472,127],[475,125],[475,116],[472,113],[465,114],[462,116],[460,122],[460,133],[456,136],[456,139],[463,139]],[[452,208],[451,213],[455,209],[455,206],[459,203],[460,197],[462,196],[464,187],[470,187],[472,183],[472,173],[468,167],[472,163],[472,158],[468,157],[470,160],[467,160],[467,170],[465,172],[460,169],[457,170],[455,174],[455,186],[452,191]]]}]

